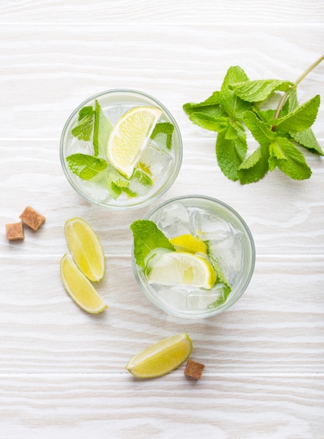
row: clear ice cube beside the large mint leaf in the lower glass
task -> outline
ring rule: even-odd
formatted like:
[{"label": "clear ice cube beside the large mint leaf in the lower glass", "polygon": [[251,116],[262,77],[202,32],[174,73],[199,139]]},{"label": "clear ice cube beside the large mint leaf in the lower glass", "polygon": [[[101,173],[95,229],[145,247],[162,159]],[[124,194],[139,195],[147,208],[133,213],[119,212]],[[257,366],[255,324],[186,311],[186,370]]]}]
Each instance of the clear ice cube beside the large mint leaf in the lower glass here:
[{"label": "clear ice cube beside the large mint leaf in the lower glass", "polygon": [[156,218],[156,225],[168,238],[189,233],[189,212],[180,202],[166,205]]}]

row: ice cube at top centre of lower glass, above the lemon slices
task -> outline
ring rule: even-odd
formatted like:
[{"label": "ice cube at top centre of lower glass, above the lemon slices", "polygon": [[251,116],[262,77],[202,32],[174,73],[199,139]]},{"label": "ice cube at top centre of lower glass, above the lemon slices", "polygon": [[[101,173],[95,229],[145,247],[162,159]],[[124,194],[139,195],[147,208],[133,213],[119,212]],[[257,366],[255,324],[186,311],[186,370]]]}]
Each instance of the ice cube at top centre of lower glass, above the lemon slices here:
[{"label": "ice cube at top centre of lower glass, above the lemon slices", "polygon": [[229,222],[205,210],[194,210],[194,212],[191,212],[189,227],[191,234],[201,238],[202,241],[221,242],[229,238],[233,233]]}]

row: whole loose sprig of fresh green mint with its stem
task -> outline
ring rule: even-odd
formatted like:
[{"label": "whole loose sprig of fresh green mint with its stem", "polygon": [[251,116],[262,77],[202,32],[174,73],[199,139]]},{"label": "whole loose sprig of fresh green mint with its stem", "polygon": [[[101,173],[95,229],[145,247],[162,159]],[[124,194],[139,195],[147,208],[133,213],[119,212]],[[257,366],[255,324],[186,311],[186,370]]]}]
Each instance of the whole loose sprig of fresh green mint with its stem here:
[{"label": "whole loose sprig of fresh green mint with its stem", "polygon": [[[297,84],[323,59],[295,83],[278,79],[250,81],[241,67],[230,67],[219,91],[203,102],[184,104],[184,112],[193,123],[217,133],[217,162],[230,180],[257,182],[275,168],[294,180],[311,177],[311,169],[297,146],[324,155],[311,130],[320,96],[299,105]],[[269,106],[274,92],[285,93],[278,107],[262,110]],[[246,129],[259,144],[252,154],[248,154]]]}]

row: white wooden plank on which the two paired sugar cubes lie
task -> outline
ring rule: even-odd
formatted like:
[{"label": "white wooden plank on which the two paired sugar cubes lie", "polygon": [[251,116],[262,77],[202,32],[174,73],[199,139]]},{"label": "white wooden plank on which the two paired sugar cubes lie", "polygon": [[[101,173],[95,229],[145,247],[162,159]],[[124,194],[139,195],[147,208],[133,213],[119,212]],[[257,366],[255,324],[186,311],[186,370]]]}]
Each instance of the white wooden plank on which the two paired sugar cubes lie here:
[{"label": "white wooden plank on which the two paired sugar cubes lie", "polygon": [[[0,210],[1,234],[5,234],[4,224],[18,221],[26,205],[46,217],[36,233],[25,230],[24,242],[1,240],[0,254],[10,249],[13,255],[62,255],[67,250],[65,221],[83,217],[99,234],[108,255],[130,255],[130,224],[146,217],[162,201],[186,194],[218,198],[236,209],[250,227],[257,255],[324,254],[324,201],[318,196],[324,168],[318,156],[306,152],[313,169],[309,180],[297,182],[274,171],[255,184],[241,186],[221,173],[214,140],[201,140],[199,148],[192,137],[184,141],[182,169],[173,187],[151,205],[125,214],[90,205],[76,194],[63,175],[58,141],[46,140],[44,145],[44,140],[39,139],[0,139],[0,190],[5,207]],[[29,153],[19,158],[25,150]]]}]

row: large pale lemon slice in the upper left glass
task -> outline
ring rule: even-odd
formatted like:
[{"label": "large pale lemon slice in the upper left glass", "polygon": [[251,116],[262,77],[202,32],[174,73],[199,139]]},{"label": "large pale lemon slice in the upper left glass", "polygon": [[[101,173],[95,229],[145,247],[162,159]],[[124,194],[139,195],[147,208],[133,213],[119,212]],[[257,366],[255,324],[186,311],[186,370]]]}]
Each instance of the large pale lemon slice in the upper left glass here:
[{"label": "large pale lemon slice in the upper left glass", "polygon": [[116,123],[109,136],[107,157],[121,174],[131,177],[161,114],[159,108],[135,107]]}]

